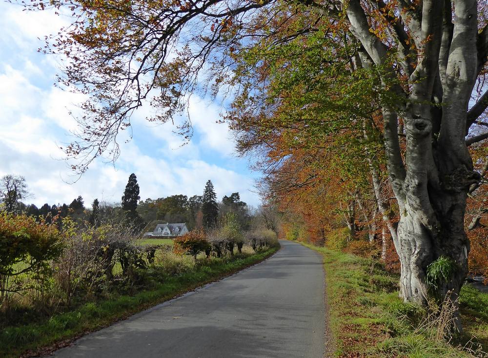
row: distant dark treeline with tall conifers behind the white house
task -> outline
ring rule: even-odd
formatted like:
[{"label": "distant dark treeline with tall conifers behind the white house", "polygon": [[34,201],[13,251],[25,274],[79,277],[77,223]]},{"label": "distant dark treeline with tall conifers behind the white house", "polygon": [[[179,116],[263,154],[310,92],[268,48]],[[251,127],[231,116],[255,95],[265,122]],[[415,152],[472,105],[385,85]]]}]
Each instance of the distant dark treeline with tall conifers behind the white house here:
[{"label": "distant dark treeline with tall conifers behind the white house", "polygon": [[236,215],[243,230],[248,230],[253,218],[252,208],[241,200],[238,192],[225,195],[218,201],[210,180],[206,182],[202,195],[189,198],[179,194],[140,200],[139,191],[136,175],[131,174],[120,203],[94,199],[91,205],[85,206],[83,198],[78,196],[69,204],[45,203],[39,208],[35,204],[25,204],[22,201],[30,197],[25,179],[9,175],[1,179],[0,202],[2,210],[24,213],[48,223],[57,220],[61,225],[62,219],[69,216],[75,221],[99,226],[104,218],[113,219],[115,216],[128,218],[146,231],[152,231],[158,222],[185,222],[189,230],[215,227],[229,212]]}]

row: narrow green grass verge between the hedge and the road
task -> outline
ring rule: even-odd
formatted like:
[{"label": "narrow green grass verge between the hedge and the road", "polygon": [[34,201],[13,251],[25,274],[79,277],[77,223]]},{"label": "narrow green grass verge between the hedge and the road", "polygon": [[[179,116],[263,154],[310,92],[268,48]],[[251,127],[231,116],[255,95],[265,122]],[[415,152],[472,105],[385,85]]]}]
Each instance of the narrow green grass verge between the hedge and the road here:
[{"label": "narrow green grass verge between the hedge and the road", "polygon": [[167,277],[163,283],[156,284],[152,289],[132,296],[122,295],[85,303],[76,310],[55,315],[42,322],[6,327],[0,332],[0,357],[33,357],[49,353],[83,334],[256,264],[277,250],[278,248],[271,248],[226,262],[213,260],[209,265],[199,265],[192,271]]}]

